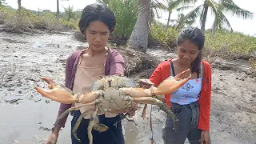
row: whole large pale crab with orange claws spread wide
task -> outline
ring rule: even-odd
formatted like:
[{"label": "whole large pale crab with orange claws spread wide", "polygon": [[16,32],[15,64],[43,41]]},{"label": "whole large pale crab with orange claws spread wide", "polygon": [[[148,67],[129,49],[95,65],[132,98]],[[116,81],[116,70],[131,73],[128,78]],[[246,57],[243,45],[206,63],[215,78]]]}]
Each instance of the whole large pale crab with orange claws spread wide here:
[{"label": "whole large pale crab with orange claws spread wide", "polygon": [[[134,102],[157,105],[165,111],[166,114],[170,115],[170,118],[174,119],[174,124],[175,122],[178,122],[178,119],[172,113],[170,108],[166,106],[166,103],[162,102],[158,96],[170,94],[174,90],[178,90],[179,87],[184,85],[190,79],[190,77],[182,79],[182,76],[188,71],[190,70],[185,70],[182,73],[177,74],[175,77],[170,76],[158,87],[152,85],[148,89],[138,87],[130,78],[121,76],[102,77],[94,82],[91,86],[90,92],[84,94],[73,94],[73,92],[65,86],[57,85],[53,80],[45,77],[41,79],[48,83],[50,90],[42,90],[42,88],[39,88],[38,86],[35,86],[35,89],[38,90],[38,93],[42,94],[42,96],[50,98],[56,102],[62,102],[65,104],[71,104],[74,102],[79,103],[79,105],[66,110],[56,120],[54,126],[56,126],[58,122],[72,110],[78,110],[82,106],[94,107],[93,110],[87,110],[82,113],[72,129],[72,134],[77,138],[76,130],[82,118],[90,114],[90,122],[87,130],[90,144],[92,144],[92,129],[100,132],[108,129],[107,126],[98,122],[98,114],[102,113],[102,111],[125,110],[132,107]],[[78,139],[78,141],[80,140]]]}]

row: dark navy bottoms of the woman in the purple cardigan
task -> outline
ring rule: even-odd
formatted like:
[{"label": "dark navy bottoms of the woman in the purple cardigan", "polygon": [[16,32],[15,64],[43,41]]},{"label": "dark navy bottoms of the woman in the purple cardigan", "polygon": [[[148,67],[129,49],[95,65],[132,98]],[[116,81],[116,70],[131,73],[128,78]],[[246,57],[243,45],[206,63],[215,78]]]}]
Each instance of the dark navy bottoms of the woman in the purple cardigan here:
[{"label": "dark navy bottoms of the woman in the purple cardigan", "polygon": [[[81,140],[81,143],[78,142],[74,135],[72,134],[72,129],[74,124],[77,122],[79,116],[81,115],[80,110],[74,110],[73,119],[71,121],[71,140],[72,144],[89,144],[87,127],[90,119],[82,118],[82,122],[76,131],[78,138]],[[99,122],[108,126],[109,129],[105,132],[98,132],[97,130],[92,130],[94,144],[124,144],[124,136],[122,134],[122,123],[120,122],[121,116],[118,115],[114,118],[106,118],[105,115],[98,116]],[[116,126],[113,126],[114,123],[117,123]]]}]

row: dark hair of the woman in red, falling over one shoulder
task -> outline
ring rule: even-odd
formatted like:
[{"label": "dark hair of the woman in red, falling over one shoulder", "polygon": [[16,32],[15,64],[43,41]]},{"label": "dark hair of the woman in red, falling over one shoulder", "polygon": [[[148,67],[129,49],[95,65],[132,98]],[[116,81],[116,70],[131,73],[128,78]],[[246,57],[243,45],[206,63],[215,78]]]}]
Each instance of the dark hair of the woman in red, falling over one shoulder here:
[{"label": "dark hair of the woman in red, falling over one shoulder", "polygon": [[205,44],[205,35],[202,33],[202,30],[194,27],[184,28],[178,35],[177,44],[180,46],[184,41],[193,42],[195,46],[198,46],[198,50],[200,51],[197,58],[194,59],[194,62],[191,64],[192,73],[199,73],[199,66],[202,60],[202,48]]}]

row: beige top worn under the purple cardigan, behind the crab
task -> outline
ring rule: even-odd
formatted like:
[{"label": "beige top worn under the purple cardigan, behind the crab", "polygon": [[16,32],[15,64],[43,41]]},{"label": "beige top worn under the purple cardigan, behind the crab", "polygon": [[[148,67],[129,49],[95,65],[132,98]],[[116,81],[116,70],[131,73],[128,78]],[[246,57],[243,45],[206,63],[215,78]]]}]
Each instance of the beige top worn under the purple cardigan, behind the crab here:
[{"label": "beige top worn under the purple cardigan, behind the crab", "polygon": [[[74,86],[73,86],[74,94],[78,94],[78,93],[83,94],[85,92],[89,92],[93,82],[95,82],[99,76],[105,75],[105,64],[104,66],[86,67],[86,66],[80,66],[81,62],[82,62],[82,58],[80,57],[78,62],[78,67],[74,75]],[[81,104],[74,103],[74,105],[78,106]],[[90,110],[90,106],[82,106],[81,108],[79,108],[79,110],[82,114],[85,111]],[[102,112],[99,115],[101,114],[105,114],[106,118],[113,118],[118,115],[118,114],[110,114],[108,112]],[[90,115],[86,115],[84,118],[89,119]]]}]

